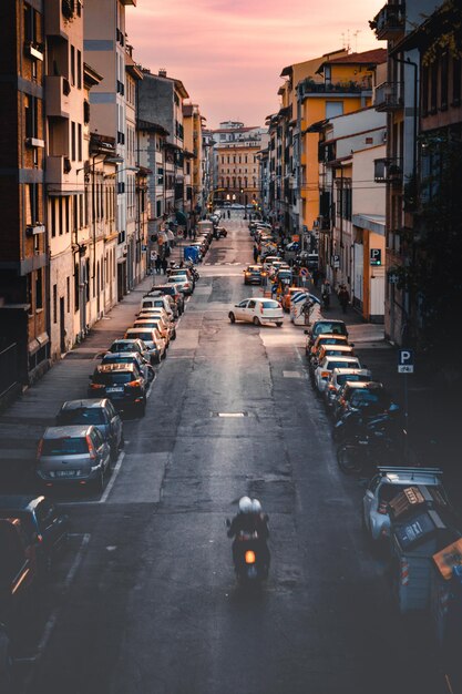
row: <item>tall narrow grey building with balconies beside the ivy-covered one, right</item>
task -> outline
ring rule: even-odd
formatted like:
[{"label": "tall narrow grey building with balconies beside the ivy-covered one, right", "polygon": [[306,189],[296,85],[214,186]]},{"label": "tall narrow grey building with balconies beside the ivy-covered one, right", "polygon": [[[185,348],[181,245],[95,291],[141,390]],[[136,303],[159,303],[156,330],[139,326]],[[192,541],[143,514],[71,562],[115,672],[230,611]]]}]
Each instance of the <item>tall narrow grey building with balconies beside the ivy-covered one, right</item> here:
[{"label": "tall narrow grey building with balconies beside the ivy-covered one, right", "polygon": [[[374,106],[387,113],[387,155],[376,161],[374,180],[387,185],[384,329],[393,343],[408,343],[414,333],[412,318],[415,297],[408,283],[398,282],[399,273],[413,255],[413,215],[404,205],[405,190],[417,178],[419,134],[419,53],[415,48],[400,49],[403,39],[432,12],[432,0],[389,0],[370,22],[379,41],[388,42],[387,76],[378,84]],[[396,271],[396,272],[392,272]]]}]

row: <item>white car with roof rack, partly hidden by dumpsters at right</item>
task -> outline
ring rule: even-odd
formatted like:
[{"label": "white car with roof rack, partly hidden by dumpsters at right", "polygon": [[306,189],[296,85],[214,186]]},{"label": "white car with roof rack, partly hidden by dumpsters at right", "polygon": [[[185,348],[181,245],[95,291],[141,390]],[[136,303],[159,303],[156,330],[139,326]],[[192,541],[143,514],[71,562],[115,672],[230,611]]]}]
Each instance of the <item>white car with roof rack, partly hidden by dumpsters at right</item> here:
[{"label": "white car with roof rack, partly hidden by dumpsters at right", "polygon": [[[427,502],[438,506],[448,503],[442,486],[442,471],[439,468],[378,467],[377,469],[378,473],[370,480],[362,499],[363,525],[374,541],[389,537],[388,504],[400,491],[417,487]],[[427,488],[427,493],[423,487]]]}]

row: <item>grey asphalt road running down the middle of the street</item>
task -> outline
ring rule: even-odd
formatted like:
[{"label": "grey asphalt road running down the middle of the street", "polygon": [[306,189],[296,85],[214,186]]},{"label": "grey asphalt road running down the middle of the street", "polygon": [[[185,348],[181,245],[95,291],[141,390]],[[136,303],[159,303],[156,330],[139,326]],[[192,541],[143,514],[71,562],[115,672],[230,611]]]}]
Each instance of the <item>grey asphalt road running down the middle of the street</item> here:
[{"label": "grey asphalt road running down the middle of the street", "polygon": [[[260,289],[243,284],[246,223],[226,226],[104,494],[65,500],[73,534],[14,634],[16,691],[449,692],[362,535],[362,487],[337,468],[302,328],[227,319]],[[84,396],[90,371],[70,367],[66,394]],[[270,575],[250,593],[225,531],[243,494],[270,519]]]}]

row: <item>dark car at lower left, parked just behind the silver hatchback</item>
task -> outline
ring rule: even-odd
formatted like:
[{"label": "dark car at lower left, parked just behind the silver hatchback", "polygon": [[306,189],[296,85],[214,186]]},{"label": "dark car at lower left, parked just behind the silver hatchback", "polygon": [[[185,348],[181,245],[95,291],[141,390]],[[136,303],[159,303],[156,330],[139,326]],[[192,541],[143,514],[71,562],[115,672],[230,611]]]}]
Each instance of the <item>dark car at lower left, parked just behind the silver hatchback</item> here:
[{"label": "dark car at lower left, parked just behind the silver hatchback", "polygon": [[52,560],[68,540],[69,516],[61,513],[47,497],[1,494],[0,519],[18,518],[31,544],[35,547],[40,569],[50,569]]}]

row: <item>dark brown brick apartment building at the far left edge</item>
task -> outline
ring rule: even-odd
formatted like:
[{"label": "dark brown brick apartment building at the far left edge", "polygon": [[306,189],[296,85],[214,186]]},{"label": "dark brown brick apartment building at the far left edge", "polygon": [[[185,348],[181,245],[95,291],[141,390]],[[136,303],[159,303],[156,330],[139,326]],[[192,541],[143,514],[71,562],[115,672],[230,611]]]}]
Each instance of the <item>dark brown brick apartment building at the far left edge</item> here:
[{"label": "dark brown brick apartment building at the far left edge", "polygon": [[12,0],[0,24],[0,397],[40,377],[50,357],[44,22],[41,3]]}]

